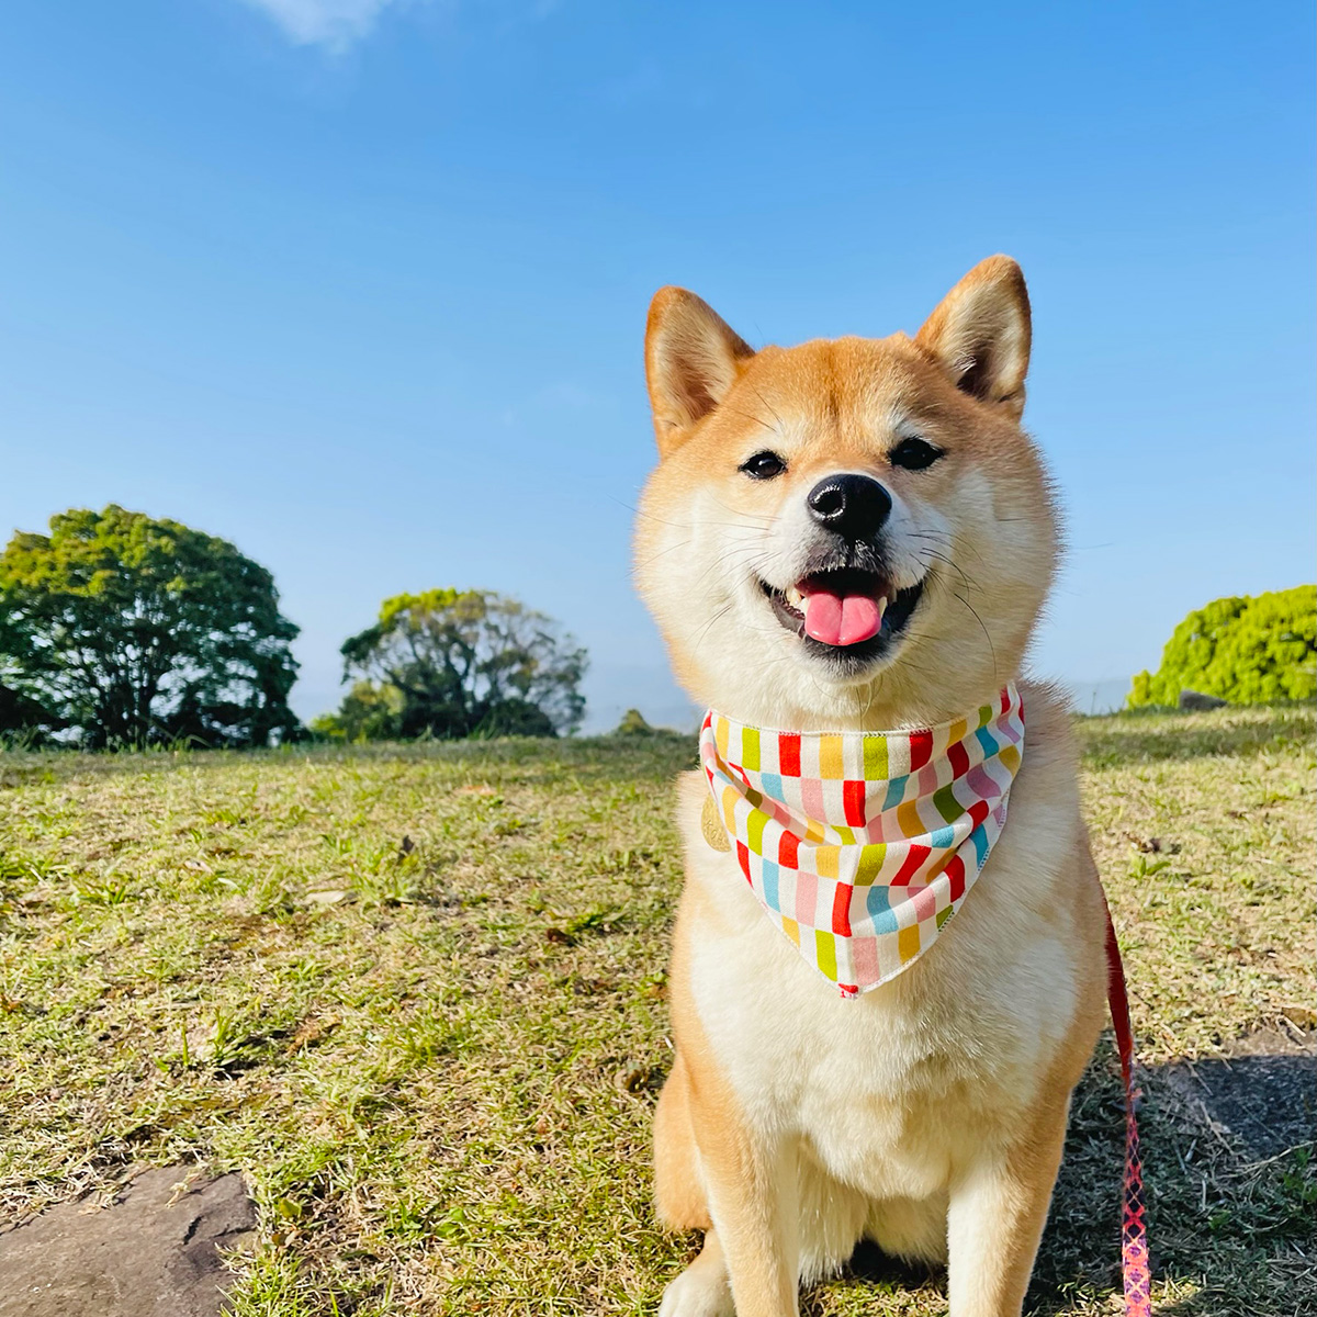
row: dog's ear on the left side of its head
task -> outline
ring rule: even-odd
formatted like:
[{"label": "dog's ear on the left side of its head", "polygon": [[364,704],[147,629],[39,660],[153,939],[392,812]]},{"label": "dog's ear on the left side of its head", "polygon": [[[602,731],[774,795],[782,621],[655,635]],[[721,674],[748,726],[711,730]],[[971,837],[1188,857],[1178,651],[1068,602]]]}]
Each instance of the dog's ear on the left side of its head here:
[{"label": "dog's ear on the left side of its head", "polygon": [[755,350],[707,302],[685,288],[660,288],[645,325],[645,379],[658,454],[727,396]]}]

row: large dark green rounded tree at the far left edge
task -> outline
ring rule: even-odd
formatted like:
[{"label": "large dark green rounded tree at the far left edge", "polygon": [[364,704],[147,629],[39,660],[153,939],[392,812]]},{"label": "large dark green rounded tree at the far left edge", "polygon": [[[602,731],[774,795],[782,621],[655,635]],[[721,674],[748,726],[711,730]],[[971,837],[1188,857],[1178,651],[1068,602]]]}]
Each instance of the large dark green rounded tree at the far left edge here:
[{"label": "large dark green rounded tree at the far left edge", "polygon": [[[225,540],[111,504],[0,556],[0,685],[87,748],[296,735],[298,628]],[[17,716],[24,716],[22,711]]]}]

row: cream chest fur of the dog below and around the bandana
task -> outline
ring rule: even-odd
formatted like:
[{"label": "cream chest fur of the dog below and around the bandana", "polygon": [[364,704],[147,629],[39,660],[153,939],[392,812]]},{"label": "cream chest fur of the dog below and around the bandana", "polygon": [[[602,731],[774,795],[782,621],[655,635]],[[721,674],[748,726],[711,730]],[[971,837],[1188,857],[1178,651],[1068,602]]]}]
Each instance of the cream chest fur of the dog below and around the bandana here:
[{"label": "cream chest fur of the dog below and around the bandana", "polygon": [[[734,859],[699,827],[707,788],[682,784],[693,890],[684,911],[690,993],[748,1122],[798,1138],[836,1180],[873,1198],[946,1189],[965,1142],[1008,1138],[1069,1033],[1083,973],[1067,861],[1079,842],[1073,778],[1056,773],[1056,710],[1025,686],[1030,731],[1008,826],[936,946],[844,1001],[760,910]],[[1036,723],[1036,731],[1035,731]],[[1064,735],[1064,734],[1063,734]],[[1077,952],[1077,956],[1076,956]],[[1088,977],[1084,975],[1084,977]]]}]

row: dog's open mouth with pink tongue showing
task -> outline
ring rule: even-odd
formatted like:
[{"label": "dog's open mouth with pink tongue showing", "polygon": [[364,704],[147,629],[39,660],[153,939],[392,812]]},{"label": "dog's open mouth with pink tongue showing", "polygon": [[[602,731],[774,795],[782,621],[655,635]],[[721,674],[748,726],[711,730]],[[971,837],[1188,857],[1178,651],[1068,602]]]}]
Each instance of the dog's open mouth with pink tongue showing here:
[{"label": "dog's open mouth with pink tongue showing", "polygon": [[882,573],[860,568],[814,572],[778,590],[760,581],[773,615],[815,653],[876,657],[905,630],[923,581],[898,590]]}]

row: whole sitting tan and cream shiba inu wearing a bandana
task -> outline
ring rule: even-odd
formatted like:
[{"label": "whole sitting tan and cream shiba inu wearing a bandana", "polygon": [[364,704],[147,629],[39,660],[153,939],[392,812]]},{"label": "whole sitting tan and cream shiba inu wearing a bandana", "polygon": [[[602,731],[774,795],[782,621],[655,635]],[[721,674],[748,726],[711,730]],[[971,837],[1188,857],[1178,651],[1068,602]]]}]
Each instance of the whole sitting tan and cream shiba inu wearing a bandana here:
[{"label": "whole sitting tan and cream shiba inu wearing a bandana", "polygon": [[[1021,1310],[1071,1090],[1105,1019],[1104,906],[1067,712],[1021,677],[1058,557],[1051,487],[1021,429],[1030,333],[1005,257],[965,275],[914,338],[755,352],[690,292],[664,288],[651,307],[660,464],[636,576],[678,680],[715,711],[706,772],[678,793],[676,1056],[655,1121],[660,1216],[705,1243],[662,1317],[789,1317],[798,1285],[863,1238],[946,1260],[952,1317]],[[1027,735],[1001,722],[979,736],[976,722],[993,731],[1021,703]],[[943,731],[930,743],[923,728]],[[802,738],[818,761],[788,770]],[[1008,740],[1021,743],[1009,759]],[[906,756],[901,777],[886,759],[873,773],[868,759],[827,766],[878,745]],[[967,748],[984,763],[957,768]],[[900,802],[925,781],[930,794],[892,817],[947,803],[980,768],[988,803],[969,790],[943,815],[976,827],[981,873],[964,890],[961,864],[957,892],[963,842],[939,852],[918,819],[880,836],[867,811],[876,789]],[[830,777],[844,773],[861,777],[843,820]],[[810,790],[818,807],[795,810]],[[1001,826],[985,840],[989,806]],[[798,844],[814,847],[809,873]],[[890,911],[860,872],[871,852],[874,867],[903,857],[881,886]],[[910,872],[923,886],[902,885]],[[824,888],[835,921],[811,923]],[[852,918],[869,919],[868,942]],[[884,968],[889,951],[900,964]],[[867,980],[848,984],[861,961]]]}]

